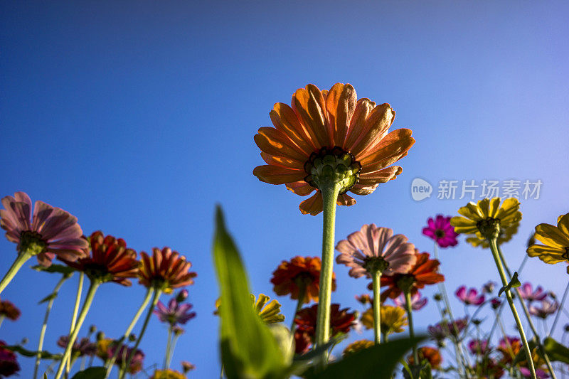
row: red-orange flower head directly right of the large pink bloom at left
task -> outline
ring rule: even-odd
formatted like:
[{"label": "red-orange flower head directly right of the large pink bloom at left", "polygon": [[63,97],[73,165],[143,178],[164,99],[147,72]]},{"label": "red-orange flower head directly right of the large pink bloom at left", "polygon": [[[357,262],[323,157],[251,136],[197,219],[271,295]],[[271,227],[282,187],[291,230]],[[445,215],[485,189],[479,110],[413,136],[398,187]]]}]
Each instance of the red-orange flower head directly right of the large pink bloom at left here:
[{"label": "red-orange flower head directly right of the large pink bloom at left", "polygon": [[130,277],[136,277],[139,262],[137,252],[127,248],[127,242],[112,235],[103,235],[100,230],[89,237],[91,254],[69,262],[59,257],[66,265],[85,272],[90,279],[115,282],[130,286]]}]

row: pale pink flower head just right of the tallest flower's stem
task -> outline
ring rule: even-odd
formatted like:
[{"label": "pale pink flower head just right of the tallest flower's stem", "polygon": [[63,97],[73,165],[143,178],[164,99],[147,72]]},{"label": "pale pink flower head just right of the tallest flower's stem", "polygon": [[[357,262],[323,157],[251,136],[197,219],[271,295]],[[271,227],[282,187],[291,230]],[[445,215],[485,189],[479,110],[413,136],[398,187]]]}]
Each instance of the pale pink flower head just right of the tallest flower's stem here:
[{"label": "pale pink flower head just right of the tallest flower's stem", "polygon": [[341,252],[336,262],[351,267],[350,276],[356,278],[371,278],[376,269],[387,275],[406,274],[417,260],[415,246],[405,235],[393,235],[393,230],[375,224],[363,225],[347,240],[338,242],[336,250]]}]

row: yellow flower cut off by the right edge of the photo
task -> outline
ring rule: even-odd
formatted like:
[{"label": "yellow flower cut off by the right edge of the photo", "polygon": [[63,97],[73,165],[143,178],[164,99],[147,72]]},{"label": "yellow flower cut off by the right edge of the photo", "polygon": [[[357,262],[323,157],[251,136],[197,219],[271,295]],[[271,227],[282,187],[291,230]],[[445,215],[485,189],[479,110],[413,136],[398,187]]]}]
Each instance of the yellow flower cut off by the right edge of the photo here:
[{"label": "yellow flower cut off by the right edge of the photo", "polygon": [[[528,247],[530,257],[539,257],[550,265],[569,261],[569,213],[558,217],[556,227],[549,224],[537,225],[534,237],[543,245]],[[567,272],[569,274],[569,267]]]}]

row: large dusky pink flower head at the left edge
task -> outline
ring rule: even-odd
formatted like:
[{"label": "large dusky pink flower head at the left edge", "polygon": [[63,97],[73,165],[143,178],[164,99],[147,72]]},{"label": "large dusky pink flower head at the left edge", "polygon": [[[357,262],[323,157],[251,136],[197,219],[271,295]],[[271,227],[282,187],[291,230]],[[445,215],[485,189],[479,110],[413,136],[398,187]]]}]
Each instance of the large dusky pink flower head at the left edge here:
[{"label": "large dusky pink flower head at the left edge", "polygon": [[31,213],[31,199],[25,192],[2,198],[0,226],[6,238],[18,244],[18,252],[34,247],[40,265],[48,267],[55,255],[75,261],[85,254],[87,240],[77,218],[60,208],[36,201]]}]

